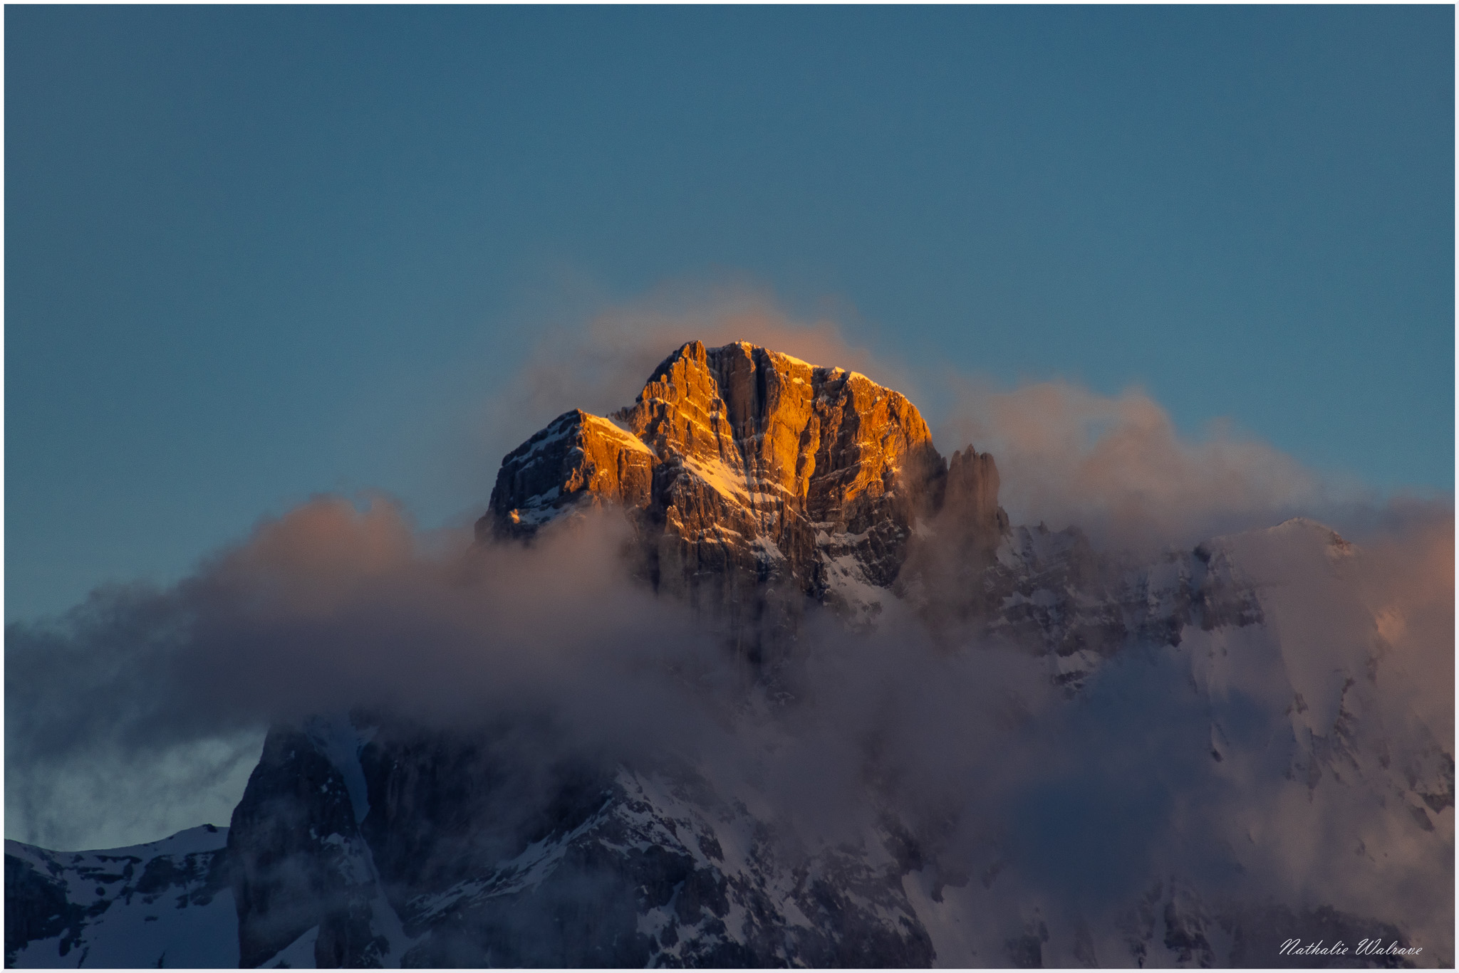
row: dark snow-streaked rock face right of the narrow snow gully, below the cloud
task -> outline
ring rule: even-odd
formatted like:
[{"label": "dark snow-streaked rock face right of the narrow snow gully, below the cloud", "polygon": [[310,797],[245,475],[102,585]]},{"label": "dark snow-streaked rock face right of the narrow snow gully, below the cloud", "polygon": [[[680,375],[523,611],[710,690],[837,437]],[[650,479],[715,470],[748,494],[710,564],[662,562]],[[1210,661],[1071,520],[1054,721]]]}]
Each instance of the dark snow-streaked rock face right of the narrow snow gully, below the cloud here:
[{"label": "dark snow-streaked rock face right of the narrow snow gully, below the cloud", "polygon": [[605,767],[531,721],[365,731],[404,966],[932,963],[887,833],[797,850],[681,764]]}]

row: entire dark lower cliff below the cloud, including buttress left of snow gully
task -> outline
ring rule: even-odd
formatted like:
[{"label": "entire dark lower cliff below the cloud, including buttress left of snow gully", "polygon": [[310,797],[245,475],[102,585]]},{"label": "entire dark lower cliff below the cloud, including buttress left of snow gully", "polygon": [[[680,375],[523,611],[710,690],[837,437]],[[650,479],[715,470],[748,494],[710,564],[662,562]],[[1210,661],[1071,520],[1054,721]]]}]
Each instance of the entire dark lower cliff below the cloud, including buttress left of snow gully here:
[{"label": "entire dark lower cliff below the cloud, including buttress left of snow gully", "polygon": [[549,737],[276,728],[229,839],[242,966],[931,964],[890,831],[797,850],[683,764]]}]

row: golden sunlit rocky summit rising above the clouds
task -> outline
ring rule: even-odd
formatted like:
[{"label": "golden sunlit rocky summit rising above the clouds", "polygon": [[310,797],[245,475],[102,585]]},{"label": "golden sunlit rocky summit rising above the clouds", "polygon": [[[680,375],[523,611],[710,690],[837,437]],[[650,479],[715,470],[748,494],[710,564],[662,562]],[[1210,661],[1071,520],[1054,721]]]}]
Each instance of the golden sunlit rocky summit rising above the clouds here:
[{"label": "golden sunlit rocky summit rising above the clouds", "polygon": [[957,460],[948,492],[916,406],[865,375],[692,341],[632,406],[566,413],[508,454],[477,535],[527,538],[581,506],[622,505],[662,591],[740,605],[744,621],[794,613],[801,594],[871,616],[919,519],[951,519],[989,548],[1007,528],[992,457]]}]

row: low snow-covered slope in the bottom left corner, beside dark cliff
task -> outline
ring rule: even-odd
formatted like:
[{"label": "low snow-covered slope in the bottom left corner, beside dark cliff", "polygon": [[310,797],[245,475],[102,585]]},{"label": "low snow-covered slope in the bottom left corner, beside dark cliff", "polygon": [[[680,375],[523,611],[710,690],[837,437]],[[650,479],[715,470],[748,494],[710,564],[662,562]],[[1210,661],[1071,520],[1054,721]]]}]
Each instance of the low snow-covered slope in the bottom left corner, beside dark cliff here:
[{"label": "low snow-covered slope in the bottom left corner, beside dark cliff", "polygon": [[96,852],[6,842],[7,967],[236,967],[228,829]]}]

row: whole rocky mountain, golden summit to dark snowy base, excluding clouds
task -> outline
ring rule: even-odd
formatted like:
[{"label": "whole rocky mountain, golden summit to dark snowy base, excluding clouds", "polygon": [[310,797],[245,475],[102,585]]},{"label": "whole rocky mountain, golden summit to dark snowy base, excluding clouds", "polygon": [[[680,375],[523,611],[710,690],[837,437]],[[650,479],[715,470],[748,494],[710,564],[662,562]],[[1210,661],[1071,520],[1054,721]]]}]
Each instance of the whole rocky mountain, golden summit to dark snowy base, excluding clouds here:
[{"label": "whole rocky mountain, golden summit to dark snowy base, excluding clouds", "polygon": [[[1137,563],[1075,528],[1010,524],[998,492],[991,455],[944,458],[916,407],[864,375],[696,341],[624,408],[563,413],[509,452],[476,535],[530,546],[622,512],[623,572],[724,635],[750,686],[725,721],[766,750],[794,743],[766,729],[778,713],[791,726],[808,706],[795,667],[811,616],[846,633],[916,620],[950,664],[1002,652],[1049,689],[1045,719],[1068,737],[1037,743],[1013,694],[986,725],[1081,764],[1077,788],[980,820],[976,802],[907,799],[868,737],[865,821],[820,840],[683,754],[603,761],[490,713],[471,731],[324,713],[270,731],[228,829],[76,855],[7,842],[7,966],[1306,966],[1281,944],[1411,945],[1396,915],[1242,891],[1285,853],[1272,815],[1183,836],[1199,852],[1170,858],[1102,848],[1129,827],[1126,795],[1081,804],[1100,734],[1123,732],[1142,788],[1256,789],[1288,817],[1364,808],[1354,820],[1382,827],[1354,826],[1344,861],[1399,888],[1411,862],[1447,855],[1452,880],[1452,747],[1380,699],[1382,635],[1339,597],[1352,547],[1291,521]],[[1312,610],[1294,598],[1316,595],[1268,584],[1274,548],[1310,556],[1310,591],[1351,637],[1315,655],[1284,635]],[[1085,872],[1064,877],[1071,858]],[[1132,891],[1050,893],[1100,887],[1100,869]],[[1420,966],[1452,963],[1452,942],[1428,947]]]}]

